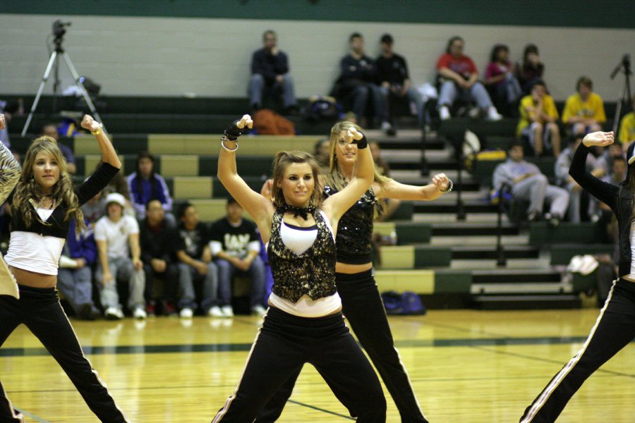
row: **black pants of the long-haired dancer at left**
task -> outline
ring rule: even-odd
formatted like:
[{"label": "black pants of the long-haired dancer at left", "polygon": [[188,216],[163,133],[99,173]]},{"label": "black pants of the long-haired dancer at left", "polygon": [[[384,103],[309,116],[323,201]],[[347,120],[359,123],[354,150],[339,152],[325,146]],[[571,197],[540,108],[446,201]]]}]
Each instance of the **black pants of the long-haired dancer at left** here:
[{"label": "black pants of the long-haired dancer at left", "polygon": [[[0,345],[19,324],[25,324],[51,353],[102,422],[128,422],[114,403],[108,388],[84,357],[55,288],[20,285],[20,299],[0,295]],[[52,400],[54,400],[52,398]],[[0,422],[22,422],[0,384]]]}]

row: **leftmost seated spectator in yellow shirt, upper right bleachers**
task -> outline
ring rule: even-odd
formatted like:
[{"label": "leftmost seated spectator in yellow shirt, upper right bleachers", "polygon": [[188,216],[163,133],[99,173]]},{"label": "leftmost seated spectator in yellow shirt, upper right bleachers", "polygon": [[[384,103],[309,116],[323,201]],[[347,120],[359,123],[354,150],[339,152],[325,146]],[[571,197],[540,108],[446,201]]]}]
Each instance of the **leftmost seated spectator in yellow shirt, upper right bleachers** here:
[{"label": "leftmost seated spectator in yellow shirt, upper right bleachers", "polygon": [[533,153],[539,157],[551,150],[554,157],[560,154],[560,128],[556,123],[558,110],[553,97],[547,93],[543,81],[536,81],[531,94],[521,99],[520,119],[516,127],[516,137],[526,137]]}]

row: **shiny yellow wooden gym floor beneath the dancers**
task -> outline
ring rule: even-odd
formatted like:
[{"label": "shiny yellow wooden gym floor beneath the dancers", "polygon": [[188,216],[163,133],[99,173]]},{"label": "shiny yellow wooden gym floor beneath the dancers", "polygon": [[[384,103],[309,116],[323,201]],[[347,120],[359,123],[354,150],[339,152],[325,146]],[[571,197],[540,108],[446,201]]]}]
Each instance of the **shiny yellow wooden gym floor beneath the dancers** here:
[{"label": "shiny yellow wooden gym floor beneath the dancers", "polygon": [[[598,309],[432,310],[390,324],[430,422],[518,422],[525,407],[581,348]],[[152,317],[73,321],[85,353],[133,422],[210,422],[231,394],[260,324]],[[20,326],[0,349],[0,378],[27,422],[96,422],[68,377]],[[392,399],[388,422],[399,422]],[[631,343],[586,381],[558,422],[635,421]],[[349,422],[306,365],[279,422]]]}]

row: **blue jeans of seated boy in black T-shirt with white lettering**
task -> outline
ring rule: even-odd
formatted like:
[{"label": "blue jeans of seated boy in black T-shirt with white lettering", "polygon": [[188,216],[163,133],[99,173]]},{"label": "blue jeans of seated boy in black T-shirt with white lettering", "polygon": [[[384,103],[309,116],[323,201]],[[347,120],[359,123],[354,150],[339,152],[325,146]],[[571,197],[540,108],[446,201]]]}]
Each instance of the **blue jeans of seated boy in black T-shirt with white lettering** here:
[{"label": "blue jeans of seated boy in black T-shirt with white lettering", "polygon": [[221,305],[231,304],[231,278],[234,275],[248,276],[251,278],[251,307],[265,304],[265,263],[258,256],[253,259],[247,271],[236,269],[234,264],[227,260],[217,259],[219,278],[219,302]]}]

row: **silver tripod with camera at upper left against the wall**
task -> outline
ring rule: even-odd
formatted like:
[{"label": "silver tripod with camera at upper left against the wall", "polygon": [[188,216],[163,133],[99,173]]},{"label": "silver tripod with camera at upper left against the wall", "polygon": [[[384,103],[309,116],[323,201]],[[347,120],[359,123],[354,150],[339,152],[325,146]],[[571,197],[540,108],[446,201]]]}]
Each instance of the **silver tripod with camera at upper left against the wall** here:
[{"label": "silver tripod with camera at upper left against the wall", "polygon": [[51,70],[53,69],[54,66],[55,66],[55,81],[53,85],[53,95],[55,97],[57,96],[57,87],[59,85],[57,70],[59,68],[60,56],[63,57],[64,63],[66,63],[66,67],[68,68],[68,71],[71,71],[71,75],[73,75],[73,80],[75,81],[75,84],[79,87],[80,92],[82,93],[82,97],[84,97],[84,100],[86,104],[88,105],[88,109],[90,109],[90,113],[92,113],[92,116],[95,117],[96,121],[98,122],[102,121],[102,118],[99,117],[97,110],[95,110],[95,104],[92,104],[92,100],[90,99],[90,96],[86,92],[86,89],[82,83],[83,78],[80,77],[80,75],[78,75],[77,71],[75,70],[75,66],[73,66],[73,62],[71,61],[71,58],[68,56],[68,53],[66,53],[66,51],[64,51],[62,48],[61,44],[63,42],[63,34],[64,32],[66,32],[66,30],[63,30],[63,25],[70,25],[70,24],[61,24],[59,23],[59,21],[56,21],[53,24],[53,32],[55,35],[55,39],[54,39],[55,49],[51,53],[51,57],[49,58],[49,63],[47,64],[47,69],[46,71],[44,71],[42,82],[40,82],[40,88],[37,90],[37,94],[35,95],[35,100],[33,101],[33,105],[31,106],[31,111],[29,112],[29,116],[24,124],[24,128],[22,130],[23,137],[25,136],[29,128],[29,124],[31,123],[31,119],[33,118],[33,114],[35,113],[35,109],[37,109],[37,104],[40,102],[42,91],[44,91],[44,86],[47,84],[47,80],[49,80],[49,76],[51,75]]}]

